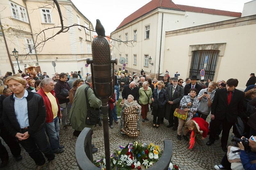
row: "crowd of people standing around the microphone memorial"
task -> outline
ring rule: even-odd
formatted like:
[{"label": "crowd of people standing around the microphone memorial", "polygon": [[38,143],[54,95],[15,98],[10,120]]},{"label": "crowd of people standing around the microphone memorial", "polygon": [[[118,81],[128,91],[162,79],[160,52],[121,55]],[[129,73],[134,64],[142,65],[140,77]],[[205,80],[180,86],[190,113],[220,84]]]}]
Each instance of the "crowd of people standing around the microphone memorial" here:
[{"label": "crowd of people standing around the microphone memorial", "polygon": [[[222,132],[221,148],[227,152],[229,131],[233,127],[236,137],[250,139],[252,156],[249,158],[248,154],[244,153],[243,160],[247,160],[246,166],[251,164],[251,167],[255,167],[256,164],[250,163],[251,159],[256,159],[256,150],[253,150],[256,136],[254,73],[250,75],[245,92],[236,89],[238,80],[234,78],[217,82],[208,79],[204,84],[204,80],[198,81],[197,76],[186,78],[185,81],[179,76],[177,71],[171,78],[166,70],[162,80],[153,78],[152,81],[143,70],[140,75],[120,75],[120,72],[116,72],[114,94],[108,100],[109,127],[113,129],[113,122],[118,123],[116,107],[121,91],[122,101],[119,107],[134,107],[139,110],[142,122],[149,121],[148,112],[151,110],[152,126],[158,129],[164,119],[168,120],[166,127],[177,130],[177,139],[180,141],[182,138],[185,141],[189,138],[193,141],[196,135],[205,139],[209,135],[206,145],[210,146],[219,139]],[[50,78],[46,72],[23,73],[19,70],[19,73],[14,75],[6,72],[0,85],[0,136],[16,161],[22,159],[21,144],[35,161],[37,169],[45,166],[44,156],[49,161],[49,168],[54,169],[55,154],[64,152],[65,148],[59,140],[60,121],[62,130],[66,131],[71,126],[74,129],[73,135],[77,137],[85,127],[93,129],[96,124],[101,124],[100,116],[99,120],[91,120],[92,114],[100,113],[101,101],[93,93],[92,76],[89,73],[84,79],[80,71],[70,74],[55,73]],[[183,115],[186,115],[186,118],[178,116],[182,115],[181,113],[185,113]],[[208,124],[206,119],[210,114],[211,121]],[[242,132],[239,126],[236,126],[238,119],[244,125]],[[241,122],[238,121],[239,123]],[[127,132],[127,129],[123,130]],[[134,137],[138,135],[136,131]],[[193,144],[190,146],[193,147]],[[243,150],[243,144],[238,146]],[[97,150],[92,144],[92,152]],[[0,158],[1,167],[7,166],[9,156],[2,143]],[[244,166],[243,161],[242,164]],[[215,166],[215,169],[224,168],[229,168],[227,163]]]}]

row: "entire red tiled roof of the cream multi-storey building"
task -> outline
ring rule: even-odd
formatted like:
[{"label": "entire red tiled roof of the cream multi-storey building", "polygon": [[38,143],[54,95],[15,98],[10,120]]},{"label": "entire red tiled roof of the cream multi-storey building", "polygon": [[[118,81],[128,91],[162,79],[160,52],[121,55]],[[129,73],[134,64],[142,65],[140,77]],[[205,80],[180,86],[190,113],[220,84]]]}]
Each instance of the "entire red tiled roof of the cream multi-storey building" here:
[{"label": "entire red tiled roof of the cream multi-storey building", "polygon": [[137,11],[133,12],[128,17],[124,18],[124,20],[119,24],[119,26],[117,26],[116,29],[128,24],[129,22],[131,22],[131,21],[133,21],[133,20],[145,15],[146,13],[153,11],[159,7],[181,10],[181,11],[207,13],[207,14],[213,14],[213,15],[241,17],[240,12],[222,11],[222,10],[200,8],[200,7],[187,6],[187,5],[178,5],[178,4],[174,4],[171,0],[152,0],[148,4],[145,4],[144,6],[142,6]]}]

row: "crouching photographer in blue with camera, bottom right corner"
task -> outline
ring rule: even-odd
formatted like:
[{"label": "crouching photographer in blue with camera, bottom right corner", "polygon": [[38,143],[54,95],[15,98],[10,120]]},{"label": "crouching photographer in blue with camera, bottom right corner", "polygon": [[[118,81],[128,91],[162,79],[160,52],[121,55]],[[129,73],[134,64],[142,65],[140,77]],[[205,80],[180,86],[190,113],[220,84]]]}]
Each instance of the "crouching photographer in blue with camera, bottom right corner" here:
[{"label": "crouching photographer in blue with camera, bottom right corner", "polygon": [[[243,138],[244,137],[241,137],[241,139],[243,139]],[[231,168],[232,169],[236,168],[236,169],[241,169],[241,170],[242,169],[245,169],[245,170],[256,169],[256,136],[251,136],[249,138],[250,151],[248,153],[245,151],[244,145],[242,142],[237,143],[237,145],[240,148],[240,156],[239,157],[241,159],[241,162],[239,160],[238,160],[239,162],[232,161],[231,157],[229,156],[230,154],[228,154],[228,157],[229,157],[229,160],[228,160],[227,154],[225,154],[221,160],[221,164],[214,166],[215,169],[217,169],[217,170],[231,169]],[[229,161],[231,161],[233,163],[230,163]]]}]

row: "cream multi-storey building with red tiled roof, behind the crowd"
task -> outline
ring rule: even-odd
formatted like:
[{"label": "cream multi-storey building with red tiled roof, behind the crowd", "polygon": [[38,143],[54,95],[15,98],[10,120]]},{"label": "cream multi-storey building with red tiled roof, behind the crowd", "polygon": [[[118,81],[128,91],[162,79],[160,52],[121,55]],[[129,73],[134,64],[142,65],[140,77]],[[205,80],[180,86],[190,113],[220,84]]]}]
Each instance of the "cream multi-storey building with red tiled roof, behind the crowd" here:
[{"label": "cream multi-storey building with red tiled roof, behind the crowd", "polygon": [[[237,17],[241,17],[241,13],[178,5],[169,0],[152,0],[124,18],[111,33],[113,39],[132,41],[112,41],[113,58],[126,59],[126,72],[139,73],[143,69],[152,78],[157,77],[165,69],[170,69],[164,67],[165,31]],[[151,64],[149,58],[152,58]],[[120,63],[117,69],[122,70]]]}]

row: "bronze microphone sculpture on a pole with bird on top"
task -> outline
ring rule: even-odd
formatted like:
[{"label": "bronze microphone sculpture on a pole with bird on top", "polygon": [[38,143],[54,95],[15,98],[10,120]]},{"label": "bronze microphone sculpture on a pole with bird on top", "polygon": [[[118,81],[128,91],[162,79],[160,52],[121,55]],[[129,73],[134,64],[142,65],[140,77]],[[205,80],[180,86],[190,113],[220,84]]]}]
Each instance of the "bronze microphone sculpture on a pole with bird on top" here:
[{"label": "bronze microphone sculpture on a pole with bird on top", "polygon": [[102,101],[106,169],[110,170],[108,100],[113,96],[115,89],[114,63],[117,64],[117,59],[111,60],[105,29],[99,19],[96,21],[95,30],[98,36],[92,41],[92,59],[88,58],[86,62],[91,64],[93,91],[96,97]]}]

